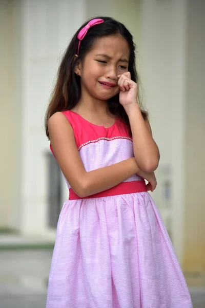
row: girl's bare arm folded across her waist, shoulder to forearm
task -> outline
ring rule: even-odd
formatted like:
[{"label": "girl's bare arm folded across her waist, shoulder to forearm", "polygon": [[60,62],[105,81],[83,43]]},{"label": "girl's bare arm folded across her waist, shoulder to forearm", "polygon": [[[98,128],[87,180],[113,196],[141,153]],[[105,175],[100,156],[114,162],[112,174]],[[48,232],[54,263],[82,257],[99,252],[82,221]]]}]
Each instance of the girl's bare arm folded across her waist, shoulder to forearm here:
[{"label": "girl's bare arm folded across her waist, shoulder to forearm", "polygon": [[76,146],[73,129],[61,112],[49,119],[49,136],[55,158],[72,189],[80,197],[107,190],[139,171],[135,158],[87,172]]}]

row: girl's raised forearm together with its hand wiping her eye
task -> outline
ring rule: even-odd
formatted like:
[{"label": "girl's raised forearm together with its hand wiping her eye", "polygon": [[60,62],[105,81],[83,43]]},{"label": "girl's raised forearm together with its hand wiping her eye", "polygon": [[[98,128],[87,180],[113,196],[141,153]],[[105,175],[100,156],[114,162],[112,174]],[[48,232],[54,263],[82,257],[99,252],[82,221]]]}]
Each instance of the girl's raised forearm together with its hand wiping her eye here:
[{"label": "girl's raised forearm together with its hand wiping her eye", "polygon": [[130,72],[118,75],[118,78],[119,102],[130,121],[135,159],[142,171],[153,172],[158,167],[159,149],[152,137],[150,123],[142,117],[137,103],[137,84],[131,80]]}]

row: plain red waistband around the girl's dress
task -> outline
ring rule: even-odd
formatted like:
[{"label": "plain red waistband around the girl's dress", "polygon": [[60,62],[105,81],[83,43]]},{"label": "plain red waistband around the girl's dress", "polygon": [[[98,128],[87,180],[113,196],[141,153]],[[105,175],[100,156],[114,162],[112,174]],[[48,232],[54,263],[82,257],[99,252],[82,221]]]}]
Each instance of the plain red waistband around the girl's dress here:
[{"label": "plain red waistband around the girl's dress", "polygon": [[84,198],[80,198],[78,195],[75,194],[73,189],[70,188],[69,189],[69,200],[101,198],[101,197],[109,197],[109,196],[116,196],[116,195],[133,194],[135,192],[143,192],[143,191],[147,191],[145,180],[133,181],[133,182],[123,182],[108,190],[101,191],[101,192],[98,192],[98,194],[94,194],[94,195],[84,197]]}]

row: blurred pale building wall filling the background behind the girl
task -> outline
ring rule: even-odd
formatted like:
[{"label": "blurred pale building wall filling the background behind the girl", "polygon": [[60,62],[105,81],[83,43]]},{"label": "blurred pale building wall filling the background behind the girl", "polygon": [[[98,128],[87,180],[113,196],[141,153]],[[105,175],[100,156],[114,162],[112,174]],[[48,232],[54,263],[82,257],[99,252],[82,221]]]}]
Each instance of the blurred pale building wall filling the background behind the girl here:
[{"label": "blurred pale building wall filling the background behind the girl", "polygon": [[[205,1],[0,0],[0,229],[54,241],[67,187],[44,114],[60,56],[87,18],[125,23],[161,160],[153,198],[186,273],[205,273]],[[1,234],[0,234],[1,242]]]}]

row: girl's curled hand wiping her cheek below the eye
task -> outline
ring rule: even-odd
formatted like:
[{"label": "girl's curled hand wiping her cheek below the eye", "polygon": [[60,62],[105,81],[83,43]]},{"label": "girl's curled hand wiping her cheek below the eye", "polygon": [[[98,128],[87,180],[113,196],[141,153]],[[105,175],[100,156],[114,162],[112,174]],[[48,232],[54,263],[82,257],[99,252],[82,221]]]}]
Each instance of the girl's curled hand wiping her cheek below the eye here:
[{"label": "girl's curled hand wiping her cheek below the eye", "polygon": [[137,103],[137,84],[131,80],[130,72],[126,72],[117,76],[119,92],[119,102],[126,107],[130,104]]}]

